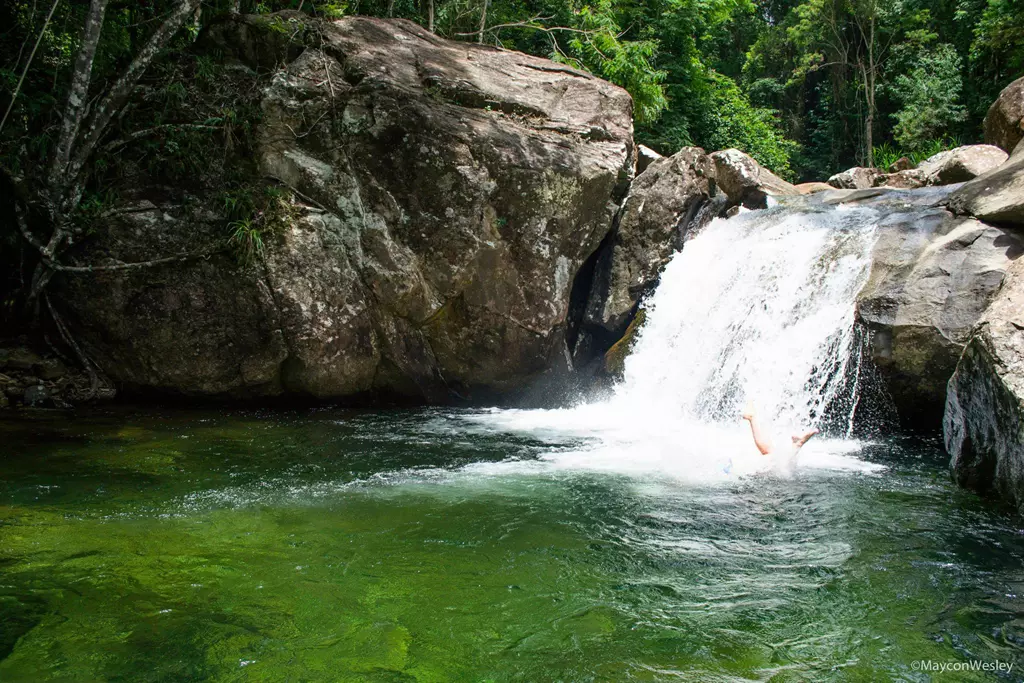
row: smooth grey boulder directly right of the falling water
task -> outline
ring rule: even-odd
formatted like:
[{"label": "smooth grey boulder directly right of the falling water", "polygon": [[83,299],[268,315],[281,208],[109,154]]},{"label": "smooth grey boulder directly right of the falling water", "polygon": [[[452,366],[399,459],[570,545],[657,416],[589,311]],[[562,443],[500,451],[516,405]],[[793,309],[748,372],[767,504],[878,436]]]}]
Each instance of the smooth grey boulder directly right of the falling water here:
[{"label": "smooth grey boulder directly right of the falling water", "polygon": [[1021,253],[1014,232],[941,209],[882,221],[857,314],[904,427],[938,428],[961,351]]}]

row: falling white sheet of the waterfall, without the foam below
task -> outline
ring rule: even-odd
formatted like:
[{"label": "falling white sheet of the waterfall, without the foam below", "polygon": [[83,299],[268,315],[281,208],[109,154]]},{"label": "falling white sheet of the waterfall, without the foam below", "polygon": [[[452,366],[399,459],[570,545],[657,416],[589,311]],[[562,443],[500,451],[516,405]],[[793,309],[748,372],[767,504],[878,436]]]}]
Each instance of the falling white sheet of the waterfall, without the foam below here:
[{"label": "falling white sheet of the waterfall, without the foam below", "polygon": [[[646,415],[817,424],[856,404],[854,302],[873,209],[776,208],[716,219],[666,267],[612,400]],[[668,416],[667,416],[668,417]]]}]

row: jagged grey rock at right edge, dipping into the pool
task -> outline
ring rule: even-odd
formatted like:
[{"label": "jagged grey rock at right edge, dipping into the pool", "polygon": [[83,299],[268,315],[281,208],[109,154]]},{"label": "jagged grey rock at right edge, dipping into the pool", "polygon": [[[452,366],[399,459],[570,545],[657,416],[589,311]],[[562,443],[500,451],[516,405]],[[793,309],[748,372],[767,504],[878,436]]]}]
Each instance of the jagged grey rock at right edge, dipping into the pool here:
[{"label": "jagged grey rock at right edge, dipping into the pool", "polygon": [[949,381],[943,435],[958,483],[1024,510],[1024,259],[1011,267]]}]

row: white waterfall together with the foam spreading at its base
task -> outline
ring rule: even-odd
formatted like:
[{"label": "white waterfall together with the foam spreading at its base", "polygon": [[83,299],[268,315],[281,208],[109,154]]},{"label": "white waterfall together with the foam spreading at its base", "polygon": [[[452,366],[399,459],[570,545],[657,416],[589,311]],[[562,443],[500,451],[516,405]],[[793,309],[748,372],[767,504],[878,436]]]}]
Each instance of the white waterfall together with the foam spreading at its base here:
[{"label": "white waterfall together with the foam spreading at its base", "polygon": [[[716,219],[676,254],[644,302],[646,321],[610,397],[567,410],[495,411],[478,421],[597,439],[586,452],[553,457],[567,466],[702,471],[700,478],[756,454],[738,420],[749,403],[786,442],[818,426],[825,409],[852,424],[854,303],[879,218],[871,208],[801,203]],[[833,455],[849,450],[831,445]],[[749,464],[748,471],[764,461]]]}]

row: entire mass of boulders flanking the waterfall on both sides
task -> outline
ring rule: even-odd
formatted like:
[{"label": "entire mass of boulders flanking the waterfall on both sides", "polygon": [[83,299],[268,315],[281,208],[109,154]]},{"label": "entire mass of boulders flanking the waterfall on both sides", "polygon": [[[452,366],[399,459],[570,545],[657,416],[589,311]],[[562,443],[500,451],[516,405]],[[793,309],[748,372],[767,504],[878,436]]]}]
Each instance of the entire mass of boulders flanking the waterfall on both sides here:
[{"label": "entire mass of boulders flanking the waterfall on both sides", "polygon": [[[873,202],[898,209],[857,314],[900,417],[944,423],[957,479],[1024,506],[1024,79],[992,104],[985,144],[793,185],[738,150],[637,148],[629,94],[565,65],[358,16],[282,49],[273,22],[299,16],[234,15],[196,47],[263,75],[242,164],[280,198],[260,257],[223,248],[247,233],[222,193],[139,174],[78,263],[220,247],[53,282],[119,389],[513,399],[621,369],[644,295],[712,219]],[[90,379],[0,349],[0,408],[60,405]]]}]

